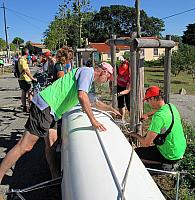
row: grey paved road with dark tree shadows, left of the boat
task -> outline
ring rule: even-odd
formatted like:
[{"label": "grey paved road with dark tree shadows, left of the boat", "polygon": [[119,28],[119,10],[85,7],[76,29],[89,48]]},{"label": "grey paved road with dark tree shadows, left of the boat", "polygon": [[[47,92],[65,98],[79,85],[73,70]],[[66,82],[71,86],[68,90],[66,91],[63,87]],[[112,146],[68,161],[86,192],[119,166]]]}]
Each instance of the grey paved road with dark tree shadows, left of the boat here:
[{"label": "grey paved road with dark tree shadows, left of the boat", "polygon": [[[12,74],[0,76],[0,159],[21,137],[28,117],[22,112],[20,90]],[[3,185],[22,189],[51,179],[45,160],[44,142],[40,140],[34,149],[24,155],[3,179]],[[26,200],[58,200],[60,187],[45,188],[24,195]],[[5,199],[15,199],[11,196]]]}]

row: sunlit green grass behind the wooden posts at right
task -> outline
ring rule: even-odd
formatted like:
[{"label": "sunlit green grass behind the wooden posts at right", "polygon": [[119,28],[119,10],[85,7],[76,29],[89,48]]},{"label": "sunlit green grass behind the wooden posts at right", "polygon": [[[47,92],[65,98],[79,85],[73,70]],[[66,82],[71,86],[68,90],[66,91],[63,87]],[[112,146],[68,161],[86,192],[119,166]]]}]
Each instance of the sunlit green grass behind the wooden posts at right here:
[{"label": "sunlit green grass behind the wooden posts at right", "polygon": [[[158,85],[163,88],[164,85],[164,68],[145,67],[144,69],[145,86]],[[195,82],[192,75],[187,72],[180,72],[178,76],[171,74],[171,93],[178,93],[184,88],[189,95],[195,95]]]}]

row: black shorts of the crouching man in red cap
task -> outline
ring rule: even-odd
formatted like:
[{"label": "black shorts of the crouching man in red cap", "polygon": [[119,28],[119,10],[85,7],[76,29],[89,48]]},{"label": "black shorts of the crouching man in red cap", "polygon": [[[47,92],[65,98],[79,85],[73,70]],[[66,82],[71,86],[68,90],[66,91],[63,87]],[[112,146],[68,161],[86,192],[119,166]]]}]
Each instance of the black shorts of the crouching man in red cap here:
[{"label": "black shorts of the crouching man in red cap", "polygon": [[135,149],[135,152],[139,156],[140,159],[144,160],[151,160],[151,161],[157,161],[160,163],[167,163],[167,164],[174,164],[178,160],[168,160],[166,159],[158,150],[156,146],[150,146],[150,147],[138,147]]}]

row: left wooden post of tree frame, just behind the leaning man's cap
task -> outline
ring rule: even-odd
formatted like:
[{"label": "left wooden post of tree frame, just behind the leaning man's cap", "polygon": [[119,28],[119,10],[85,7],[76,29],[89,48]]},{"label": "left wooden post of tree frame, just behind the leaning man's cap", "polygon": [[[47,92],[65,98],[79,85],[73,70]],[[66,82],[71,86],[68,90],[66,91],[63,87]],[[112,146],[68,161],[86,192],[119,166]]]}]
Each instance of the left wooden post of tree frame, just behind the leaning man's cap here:
[{"label": "left wooden post of tree frame, just behind the leaning man's cap", "polygon": [[[116,35],[112,35],[112,40],[116,39]],[[112,90],[117,89],[117,68],[116,68],[116,45],[111,43],[111,65],[114,69],[114,80],[112,81]],[[117,94],[112,95],[112,107],[117,108]]]}]

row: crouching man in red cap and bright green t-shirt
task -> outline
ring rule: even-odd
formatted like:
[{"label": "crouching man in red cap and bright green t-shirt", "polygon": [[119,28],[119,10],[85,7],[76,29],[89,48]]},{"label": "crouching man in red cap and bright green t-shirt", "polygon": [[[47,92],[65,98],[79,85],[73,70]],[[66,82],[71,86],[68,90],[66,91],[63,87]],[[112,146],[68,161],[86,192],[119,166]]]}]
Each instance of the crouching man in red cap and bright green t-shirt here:
[{"label": "crouching man in red cap and bright green t-shirt", "polygon": [[[131,134],[138,139],[142,146],[136,148],[135,151],[146,166],[159,163],[174,164],[183,157],[186,149],[186,139],[179,112],[173,104],[169,104],[170,107],[165,104],[163,92],[157,86],[151,86],[146,90],[144,101],[147,101],[157,111],[152,117],[145,137],[136,133]],[[168,129],[170,132],[166,136],[165,142],[156,144],[155,138],[159,134],[167,133]]]}]

